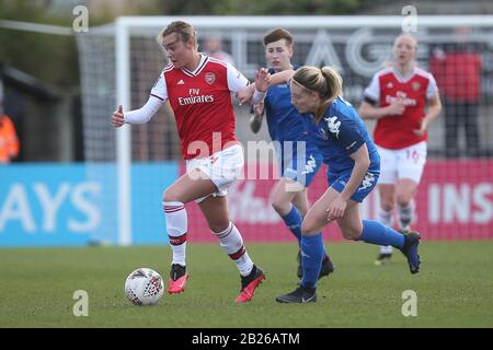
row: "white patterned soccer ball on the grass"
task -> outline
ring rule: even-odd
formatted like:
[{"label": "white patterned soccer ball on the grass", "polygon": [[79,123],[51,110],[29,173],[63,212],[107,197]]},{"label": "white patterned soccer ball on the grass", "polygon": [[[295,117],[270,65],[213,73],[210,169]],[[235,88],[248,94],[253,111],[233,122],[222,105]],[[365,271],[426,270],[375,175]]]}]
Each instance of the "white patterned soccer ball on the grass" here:
[{"label": "white patterned soccer ball on the grass", "polygon": [[139,268],[128,275],[125,294],[135,305],[153,305],[163,294],[162,277],[149,268]]}]

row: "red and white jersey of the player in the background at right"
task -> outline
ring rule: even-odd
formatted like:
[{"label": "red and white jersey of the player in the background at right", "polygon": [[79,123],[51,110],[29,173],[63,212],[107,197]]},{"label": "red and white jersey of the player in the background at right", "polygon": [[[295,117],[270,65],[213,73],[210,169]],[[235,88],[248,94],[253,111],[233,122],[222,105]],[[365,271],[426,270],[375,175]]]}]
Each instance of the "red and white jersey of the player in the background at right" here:
[{"label": "red and white jersey of the player in the background at right", "polygon": [[406,77],[402,77],[393,67],[377,72],[370,85],[365,90],[365,97],[386,107],[392,101],[402,100],[405,110],[402,115],[385,116],[377,121],[374,132],[375,143],[399,150],[427,140],[427,135],[416,136],[413,130],[420,129],[425,116],[426,102],[438,88],[435,78],[427,71],[415,67]]}]

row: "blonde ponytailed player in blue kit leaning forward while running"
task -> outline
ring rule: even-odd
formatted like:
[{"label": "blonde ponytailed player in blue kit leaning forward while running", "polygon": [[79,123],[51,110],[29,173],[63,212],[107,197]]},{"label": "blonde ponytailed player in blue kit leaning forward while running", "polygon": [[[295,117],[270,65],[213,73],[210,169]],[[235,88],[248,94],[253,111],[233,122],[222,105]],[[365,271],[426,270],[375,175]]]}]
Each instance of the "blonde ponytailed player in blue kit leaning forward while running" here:
[{"label": "blonde ponytailed player in blue kit leaning forward while running", "polygon": [[419,233],[403,235],[359,215],[359,203],[377,184],[380,158],[356,110],[340,96],[341,75],[330,67],[303,67],[294,74],[290,90],[293,104],[305,114],[305,127],[329,165],[330,187],[308,210],[301,225],[301,283],[276,301],[317,301],[316,284],[323,257],[321,230],[332,221],[337,222],[346,240],[398,247],[408,257],[411,273],[419,272]]}]

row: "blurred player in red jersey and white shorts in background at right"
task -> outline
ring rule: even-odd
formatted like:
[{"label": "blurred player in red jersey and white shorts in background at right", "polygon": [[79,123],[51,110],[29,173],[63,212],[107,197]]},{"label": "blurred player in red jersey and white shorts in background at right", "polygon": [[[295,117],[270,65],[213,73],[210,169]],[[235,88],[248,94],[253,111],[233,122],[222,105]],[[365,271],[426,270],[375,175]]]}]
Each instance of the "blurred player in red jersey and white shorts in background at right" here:
[{"label": "blurred player in red jersey and white shorts in background at right", "polygon": [[[416,49],[413,36],[395,38],[392,66],[374,75],[358,110],[362,118],[377,119],[374,141],[381,158],[379,220],[392,226],[397,203],[400,229],[408,231],[426,162],[427,129],[442,109],[435,79],[416,67]],[[391,256],[392,247],[381,246],[375,262],[381,265]]]}]

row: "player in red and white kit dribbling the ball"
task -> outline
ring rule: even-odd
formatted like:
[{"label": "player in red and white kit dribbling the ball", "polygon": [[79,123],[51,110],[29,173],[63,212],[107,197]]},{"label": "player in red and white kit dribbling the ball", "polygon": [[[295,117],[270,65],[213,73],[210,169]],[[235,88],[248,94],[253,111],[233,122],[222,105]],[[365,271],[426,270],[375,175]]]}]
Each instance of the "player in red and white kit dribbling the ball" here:
[{"label": "player in red and white kit dribbling the ball", "polygon": [[[198,52],[197,36],[186,22],[172,22],[158,36],[170,63],[151,90],[148,102],[139,109],[113,114],[115,127],[142,124],[168,100],[176,118],[186,173],[168,187],[163,210],[173,261],[168,292],[183,292],[188,273],[185,264],[187,215],[185,203],[195,200],[220,246],[236,262],[241,275],[238,303],[249,302],[265,278],[243,245],[243,240],[229,220],[227,187],[240,175],[243,149],[234,138],[234,114],[231,93],[253,90],[249,81],[230,63]],[[268,77],[261,70],[255,79],[252,103],[262,102]],[[260,92],[263,90],[264,92]]]}]

